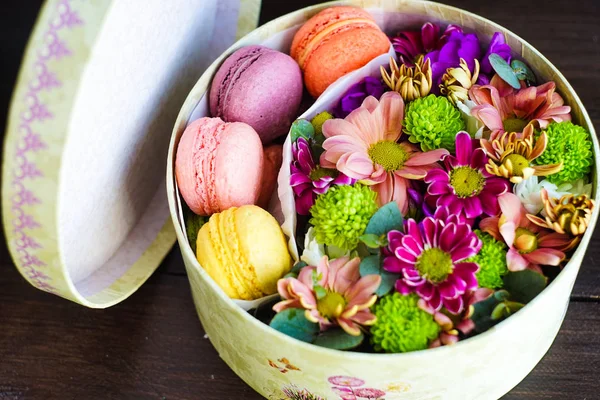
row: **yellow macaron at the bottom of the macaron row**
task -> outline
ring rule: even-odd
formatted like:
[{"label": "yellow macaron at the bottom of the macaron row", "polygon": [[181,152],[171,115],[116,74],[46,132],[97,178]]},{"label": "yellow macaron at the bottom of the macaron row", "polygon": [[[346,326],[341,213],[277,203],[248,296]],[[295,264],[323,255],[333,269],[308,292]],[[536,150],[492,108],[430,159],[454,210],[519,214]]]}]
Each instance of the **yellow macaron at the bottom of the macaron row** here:
[{"label": "yellow macaron at the bottom of the macaron row", "polygon": [[252,205],[212,215],[198,233],[196,257],[225,294],[239,300],[276,293],[292,267],[279,224]]}]

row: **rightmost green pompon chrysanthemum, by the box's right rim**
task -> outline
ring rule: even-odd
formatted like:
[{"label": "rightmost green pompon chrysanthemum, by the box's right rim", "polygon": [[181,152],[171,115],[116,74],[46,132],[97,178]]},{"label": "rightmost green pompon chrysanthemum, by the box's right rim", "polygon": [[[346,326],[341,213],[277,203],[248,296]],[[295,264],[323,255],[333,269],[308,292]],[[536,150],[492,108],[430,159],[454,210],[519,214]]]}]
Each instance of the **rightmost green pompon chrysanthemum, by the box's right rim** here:
[{"label": "rightmost green pompon chrysanthemum, by the box's right rim", "polygon": [[548,145],[535,163],[549,165],[563,163],[560,172],[546,177],[551,183],[560,185],[584,178],[594,163],[590,133],[571,121],[548,125]]}]

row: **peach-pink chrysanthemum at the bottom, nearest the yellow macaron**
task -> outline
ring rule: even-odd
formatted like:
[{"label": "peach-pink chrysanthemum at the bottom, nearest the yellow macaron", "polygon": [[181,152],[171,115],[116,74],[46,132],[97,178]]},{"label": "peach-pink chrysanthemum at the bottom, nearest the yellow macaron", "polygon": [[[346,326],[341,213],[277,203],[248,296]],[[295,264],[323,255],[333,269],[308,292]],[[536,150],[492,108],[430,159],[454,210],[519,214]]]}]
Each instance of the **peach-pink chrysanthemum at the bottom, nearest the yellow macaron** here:
[{"label": "peach-pink chrysanthemum at the bottom, nearest the yellow macaron", "polygon": [[375,291],[381,276],[361,278],[359,266],[358,257],[332,261],[323,257],[316,267],[302,268],[297,279],[284,278],[277,282],[283,300],[275,304],[273,310],[303,308],[306,318],[319,323],[321,330],[339,325],[350,335],[360,335],[361,326],[373,325],[376,321],[369,307],[377,300]]}]

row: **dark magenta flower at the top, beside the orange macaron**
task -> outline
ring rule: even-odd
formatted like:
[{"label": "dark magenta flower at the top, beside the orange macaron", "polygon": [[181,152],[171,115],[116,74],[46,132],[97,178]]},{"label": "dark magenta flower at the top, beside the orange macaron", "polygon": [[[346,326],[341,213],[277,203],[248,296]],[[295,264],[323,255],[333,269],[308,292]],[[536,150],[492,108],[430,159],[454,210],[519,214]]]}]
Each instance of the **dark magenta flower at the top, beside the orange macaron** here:
[{"label": "dark magenta flower at the top, beside the orange macaron", "polygon": [[440,36],[440,27],[427,22],[421,27],[421,31],[402,31],[392,39],[394,50],[398,54],[400,62],[408,67],[413,67],[417,57],[429,53],[443,46],[450,33],[462,32],[457,25],[448,25],[444,34]]}]

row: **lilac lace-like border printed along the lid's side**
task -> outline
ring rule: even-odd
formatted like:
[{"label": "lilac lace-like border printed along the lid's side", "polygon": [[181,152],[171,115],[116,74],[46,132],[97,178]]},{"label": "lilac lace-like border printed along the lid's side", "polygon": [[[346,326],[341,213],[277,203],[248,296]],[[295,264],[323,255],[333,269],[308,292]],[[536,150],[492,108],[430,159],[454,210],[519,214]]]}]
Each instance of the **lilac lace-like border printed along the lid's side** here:
[{"label": "lilac lace-like border printed along the lid's side", "polygon": [[36,256],[42,246],[29,235],[29,232],[39,229],[41,225],[35,218],[28,214],[26,207],[33,207],[41,201],[33,192],[27,189],[29,182],[35,182],[43,177],[43,172],[38,169],[29,157],[47,149],[42,135],[37,129],[43,127],[43,122],[54,118],[48,105],[40,99],[42,92],[49,92],[60,88],[62,83],[56,74],[50,70],[52,60],[60,60],[72,55],[71,50],[59,37],[59,32],[83,25],[83,21],[70,4],[71,0],[61,0],[56,7],[56,16],[50,20],[47,30],[43,34],[44,46],[38,51],[33,63],[35,77],[29,82],[24,98],[26,111],[20,116],[18,139],[12,177],[14,194],[11,197],[11,211],[13,213],[12,229],[16,236],[15,247],[20,257],[20,262],[25,275],[31,284],[46,292],[58,294],[52,284],[52,279],[43,272],[46,263]]}]

